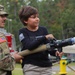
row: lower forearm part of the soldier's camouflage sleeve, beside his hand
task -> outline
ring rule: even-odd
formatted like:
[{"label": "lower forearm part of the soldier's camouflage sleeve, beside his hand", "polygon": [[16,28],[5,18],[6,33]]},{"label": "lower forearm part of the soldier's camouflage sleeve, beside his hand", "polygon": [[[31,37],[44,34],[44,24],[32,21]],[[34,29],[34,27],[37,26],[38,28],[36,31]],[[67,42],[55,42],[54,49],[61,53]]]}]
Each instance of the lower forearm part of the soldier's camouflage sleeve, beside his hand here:
[{"label": "lower forearm part of the soldier's camouflage sleeve, beside his hand", "polygon": [[15,68],[15,60],[11,55],[5,56],[0,60],[0,69],[13,70]]}]

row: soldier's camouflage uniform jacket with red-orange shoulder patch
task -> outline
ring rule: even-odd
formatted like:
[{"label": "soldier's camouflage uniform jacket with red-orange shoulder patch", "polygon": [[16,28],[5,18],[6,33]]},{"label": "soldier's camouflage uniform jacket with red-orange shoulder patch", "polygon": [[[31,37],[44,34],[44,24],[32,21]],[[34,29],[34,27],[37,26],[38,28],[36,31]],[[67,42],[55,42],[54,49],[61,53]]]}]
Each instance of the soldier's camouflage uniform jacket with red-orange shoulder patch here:
[{"label": "soldier's camouflage uniform jacket with red-orange shoulder patch", "polygon": [[10,55],[6,37],[0,32],[0,75],[5,75],[5,71],[11,71],[14,67],[15,61]]}]

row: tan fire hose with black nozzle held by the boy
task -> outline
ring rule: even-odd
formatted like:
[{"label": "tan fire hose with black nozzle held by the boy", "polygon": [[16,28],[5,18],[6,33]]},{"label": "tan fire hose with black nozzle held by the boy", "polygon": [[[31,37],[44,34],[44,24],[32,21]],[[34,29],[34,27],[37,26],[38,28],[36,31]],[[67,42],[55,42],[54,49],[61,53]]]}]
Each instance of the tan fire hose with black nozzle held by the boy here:
[{"label": "tan fire hose with black nozzle held by the boy", "polygon": [[36,48],[32,51],[26,49],[26,50],[23,50],[23,51],[19,52],[19,54],[21,56],[26,56],[26,55],[29,55],[29,54],[33,54],[33,53],[48,50],[48,49],[50,49],[50,50],[53,50],[55,48],[61,48],[62,49],[62,47],[65,47],[65,46],[68,46],[68,45],[73,45],[73,44],[75,44],[75,37],[68,38],[68,39],[65,39],[65,40],[55,40],[54,39],[54,40],[51,40],[50,43],[41,45],[41,46],[39,46],[38,48]]}]

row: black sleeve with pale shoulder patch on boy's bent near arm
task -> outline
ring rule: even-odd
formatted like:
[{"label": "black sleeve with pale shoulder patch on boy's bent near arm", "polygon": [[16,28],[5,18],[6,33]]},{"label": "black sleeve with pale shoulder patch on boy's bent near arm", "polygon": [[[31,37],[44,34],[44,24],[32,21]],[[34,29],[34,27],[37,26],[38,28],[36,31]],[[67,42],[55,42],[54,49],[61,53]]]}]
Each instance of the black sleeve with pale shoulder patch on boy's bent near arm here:
[{"label": "black sleeve with pale shoulder patch on boy's bent near arm", "polygon": [[23,49],[33,50],[40,46],[46,40],[46,37],[41,36],[40,38],[31,41],[27,34],[19,31],[19,40],[22,43]]}]

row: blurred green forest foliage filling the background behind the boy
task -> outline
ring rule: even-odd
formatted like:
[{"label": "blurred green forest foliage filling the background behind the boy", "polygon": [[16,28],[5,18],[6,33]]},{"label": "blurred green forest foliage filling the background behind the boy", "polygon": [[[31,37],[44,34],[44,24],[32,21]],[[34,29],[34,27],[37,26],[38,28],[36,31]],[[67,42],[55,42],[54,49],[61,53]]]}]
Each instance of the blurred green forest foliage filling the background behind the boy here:
[{"label": "blurred green forest foliage filling the background behind the boy", "polygon": [[6,29],[15,35],[17,45],[18,30],[23,27],[18,12],[23,5],[36,7],[39,11],[40,25],[46,26],[49,33],[57,39],[75,36],[75,0],[0,0],[0,4],[3,4],[10,14]]}]

